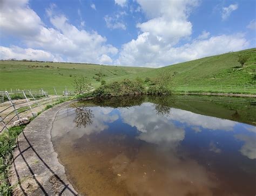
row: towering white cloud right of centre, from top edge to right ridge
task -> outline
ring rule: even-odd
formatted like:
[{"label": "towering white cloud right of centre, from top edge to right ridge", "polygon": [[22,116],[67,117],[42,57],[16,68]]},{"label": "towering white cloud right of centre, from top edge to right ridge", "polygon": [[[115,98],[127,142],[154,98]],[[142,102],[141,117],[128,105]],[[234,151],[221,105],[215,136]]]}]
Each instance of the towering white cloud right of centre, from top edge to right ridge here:
[{"label": "towering white cloud right of centre, from top edge to right ridge", "polygon": [[136,39],[123,44],[116,64],[159,67],[227,51],[245,49],[249,43],[244,35],[218,35],[210,37],[203,31],[191,42],[176,46],[187,40],[192,33],[188,21],[191,11],[199,2],[161,0],[138,0],[148,20],[138,23],[140,34]]}]

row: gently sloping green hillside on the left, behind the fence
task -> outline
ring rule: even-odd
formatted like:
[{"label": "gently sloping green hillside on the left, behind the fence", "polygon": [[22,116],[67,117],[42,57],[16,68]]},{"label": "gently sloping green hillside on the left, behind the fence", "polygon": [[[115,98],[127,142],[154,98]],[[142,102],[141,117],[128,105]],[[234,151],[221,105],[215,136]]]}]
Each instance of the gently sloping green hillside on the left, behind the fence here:
[{"label": "gently sloping green hillside on the left, behind the fence", "polygon": [[[32,67],[33,65],[38,67]],[[47,65],[50,67],[45,67]],[[75,63],[0,61],[0,90],[72,86],[73,77],[82,74],[93,85],[97,86],[100,85],[100,82],[97,82],[93,77],[98,77],[96,74],[99,72],[103,75],[100,79],[107,81],[110,78],[127,76],[137,72],[143,73],[148,70],[150,68]],[[70,75],[72,76],[70,77]]]}]

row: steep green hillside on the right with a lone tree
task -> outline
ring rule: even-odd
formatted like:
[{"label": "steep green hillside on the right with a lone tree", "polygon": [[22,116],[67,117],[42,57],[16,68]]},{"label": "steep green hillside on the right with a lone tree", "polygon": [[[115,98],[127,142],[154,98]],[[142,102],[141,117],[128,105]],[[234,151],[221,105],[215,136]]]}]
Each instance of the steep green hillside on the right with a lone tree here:
[{"label": "steep green hillside on the right with a lone tree", "polygon": [[[250,59],[248,59],[244,67],[240,67],[237,61],[239,54],[242,53],[250,55]],[[224,55],[205,57],[143,73],[113,78],[112,80],[124,78],[135,79],[137,77],[143,79],[146,77],[156,78],[161,73],[170,72],[173,75],[172,84],[174,86],[255,85],[255,69],[256,49],[254,48],[226,53]]]}]

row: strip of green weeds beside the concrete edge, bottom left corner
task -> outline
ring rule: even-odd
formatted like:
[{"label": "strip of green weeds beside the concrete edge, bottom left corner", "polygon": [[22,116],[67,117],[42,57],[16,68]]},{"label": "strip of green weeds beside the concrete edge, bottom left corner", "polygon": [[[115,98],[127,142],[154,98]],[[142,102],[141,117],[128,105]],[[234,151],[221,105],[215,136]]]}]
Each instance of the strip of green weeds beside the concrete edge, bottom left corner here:
[{"label": "strip of green weeds beside the concrete edge, bottom left corner", "polygon": [[12,160],[12,151],[16,146],[16,138],[24,128],[24,125],[15,126],[0,134],[0,193],[3,195],[11,195],[8,171]]}]

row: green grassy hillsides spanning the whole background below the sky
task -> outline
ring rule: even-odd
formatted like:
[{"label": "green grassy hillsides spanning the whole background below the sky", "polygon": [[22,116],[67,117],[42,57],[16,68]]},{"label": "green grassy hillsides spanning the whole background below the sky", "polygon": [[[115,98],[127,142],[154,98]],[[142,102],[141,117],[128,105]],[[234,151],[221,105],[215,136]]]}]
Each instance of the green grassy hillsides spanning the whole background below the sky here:
[{"label": "green grassy hillsides spanning the whole background below the sky", "polygon": [[[238,56],[250,58],[241,67]],[[72,86],[73,77],[84,75],[93,86],[101,80],[146,78],[153,80],[163,73],[172,76],[170,86],[184,92],[256,93],[256,49],[225,53],[190,62],[150,69],[143,67],[106,66],[73,63],[0,62],[0,90],[38,89]],[[150,83],[145,83],[149,85]]]}]

